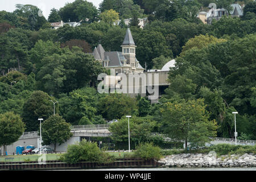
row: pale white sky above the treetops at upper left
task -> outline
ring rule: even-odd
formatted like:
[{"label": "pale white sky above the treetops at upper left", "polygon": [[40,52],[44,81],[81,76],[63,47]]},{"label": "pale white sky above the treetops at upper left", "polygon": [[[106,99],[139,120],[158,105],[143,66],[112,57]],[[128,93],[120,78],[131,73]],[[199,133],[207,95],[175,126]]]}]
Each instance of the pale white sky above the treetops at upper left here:
[{"label": "pale white sky above the treetops at upper left", "polygon": [[[0,0],[0,11],[5,10],[7,12],[13,12],[16,4],[22,5],[34,5],[43,11],[43,15],[48,19],[48,15],[53,7],[57,10],[60,7],[65,6],[66,3],[72,3],[75,0]],[[98,8],[98,5],[103,0],[87,0],[92,2],[94,6]]]}]

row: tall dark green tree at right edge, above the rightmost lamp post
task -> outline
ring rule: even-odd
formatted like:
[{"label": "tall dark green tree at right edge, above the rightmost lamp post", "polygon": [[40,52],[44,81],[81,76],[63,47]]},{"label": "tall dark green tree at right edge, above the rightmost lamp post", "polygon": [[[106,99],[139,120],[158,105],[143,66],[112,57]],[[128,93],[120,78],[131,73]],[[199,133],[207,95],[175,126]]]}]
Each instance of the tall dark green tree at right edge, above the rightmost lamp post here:
[{"label": "tall dark green tree at right edge, above the rightmost lamp post", "polygon": [[[256,35],[247,35],[234,40],[230,46],[232,57],[227,64],[230,74],[224,78],[222,90],[226,102],[241,114],[255,114],[250,104],[255,86],[255,46]],[[239,65],[239,67],[237,66]]]}]

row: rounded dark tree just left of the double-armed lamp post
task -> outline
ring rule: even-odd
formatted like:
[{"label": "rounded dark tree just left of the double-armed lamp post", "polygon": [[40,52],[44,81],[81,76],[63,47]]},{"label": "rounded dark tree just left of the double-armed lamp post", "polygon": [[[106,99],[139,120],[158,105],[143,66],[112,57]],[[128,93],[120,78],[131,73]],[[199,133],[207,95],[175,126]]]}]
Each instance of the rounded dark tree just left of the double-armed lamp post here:
[{"label": "rounded dark tree just left of the double-armed lamp post", "polygon": [[[46,120],[53,113],[53,105],[47,93],[34,91],[23,106],[22,118],[26,123],[26,131],[36,131],[39,127],[38,118]],[[59,106],[55,106],[55,113],[59,113]]]}]

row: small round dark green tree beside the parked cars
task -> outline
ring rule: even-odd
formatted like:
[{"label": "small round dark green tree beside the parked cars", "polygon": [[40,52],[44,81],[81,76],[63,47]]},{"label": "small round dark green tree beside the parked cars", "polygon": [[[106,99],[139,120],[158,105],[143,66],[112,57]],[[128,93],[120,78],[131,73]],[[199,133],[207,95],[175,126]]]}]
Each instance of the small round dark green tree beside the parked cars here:
[{"label": "small round dark green tree beside the parked cars", "polygon": [[67,141],[71,136],[71,124],[59,115],[52,115],[42,123],[42,139],[43,145],[54,144],[54,151],[56,152],[56,144],[61,145]]}]

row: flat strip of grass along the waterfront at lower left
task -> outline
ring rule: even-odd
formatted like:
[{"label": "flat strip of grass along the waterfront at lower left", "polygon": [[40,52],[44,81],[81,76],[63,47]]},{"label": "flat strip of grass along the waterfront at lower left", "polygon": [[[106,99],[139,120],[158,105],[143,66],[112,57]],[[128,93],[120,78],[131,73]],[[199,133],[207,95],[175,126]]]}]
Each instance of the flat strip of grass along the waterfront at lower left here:
[{"label": "flat strip of grass along the waterfront at lower left", "polygon": [[[49,160],[59,160],[62,154],[46,154],[46,161]],[[38,154],[32,155],[6,155],[0,156],[0,162],[30,162],[30,161],[38,161],[40,156]],[[13,160],[6,158],[14,158]]]}]

